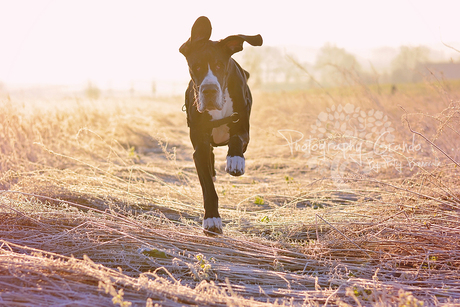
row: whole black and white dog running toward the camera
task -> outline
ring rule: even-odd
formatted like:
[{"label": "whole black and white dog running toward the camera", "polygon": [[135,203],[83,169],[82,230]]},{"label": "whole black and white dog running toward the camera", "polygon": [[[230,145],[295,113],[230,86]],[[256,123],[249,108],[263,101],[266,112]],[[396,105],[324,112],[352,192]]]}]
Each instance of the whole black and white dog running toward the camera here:
[{"label": "whole black and white dog running toward the camera", "polygon": [[243,43],[262,45],[260,35],[232,35],[211,41],[211,22],[199,17],[191,37],[179,51],[186,57],[192,80],[185,92],[187,123],[195,152],[193,160],[204,200],[203,228],[206,234],[222,233],[218,197],[214,187],[213,147],[228,145],[226,171],[244,174],[243,153],[249,143],[249,115],[252,96],[249,73],[231,58],[243,50]]}]

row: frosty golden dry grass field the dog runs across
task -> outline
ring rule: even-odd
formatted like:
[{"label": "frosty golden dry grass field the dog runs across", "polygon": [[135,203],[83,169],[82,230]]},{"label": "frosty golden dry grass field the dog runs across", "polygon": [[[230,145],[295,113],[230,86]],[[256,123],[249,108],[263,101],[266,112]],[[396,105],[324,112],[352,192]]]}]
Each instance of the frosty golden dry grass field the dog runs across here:
[{"label": "frosty golden dry grass field the dog runs across", "polygon": [[254,93],[219,237],[182,97],[2,99],[0,306],[458,306],[459,89]]}]

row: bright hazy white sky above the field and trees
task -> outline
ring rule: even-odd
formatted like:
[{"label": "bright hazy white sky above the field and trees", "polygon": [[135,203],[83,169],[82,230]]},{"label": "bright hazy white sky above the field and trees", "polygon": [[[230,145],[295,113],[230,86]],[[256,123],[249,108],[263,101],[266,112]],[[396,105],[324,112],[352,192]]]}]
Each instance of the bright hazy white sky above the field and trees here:
[{"label": "bright hazy white sky above the field and trees", "polygon": [[[224,4],[225,3],[225,4]],[[460,49],[459,0],[0,0],[0,81],[101,87],[184,80],[178,52],[198,16],[211,39],[262,34],[266,45]]]}]

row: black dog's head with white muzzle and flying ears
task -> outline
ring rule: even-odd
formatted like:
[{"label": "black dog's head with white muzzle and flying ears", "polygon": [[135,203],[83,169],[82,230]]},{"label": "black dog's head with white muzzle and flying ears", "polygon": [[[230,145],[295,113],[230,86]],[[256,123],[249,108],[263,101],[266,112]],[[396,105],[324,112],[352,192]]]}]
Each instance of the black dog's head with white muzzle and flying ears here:
[{"label": "black dog's head with white muzzle and flying ears", "polygon": [[227,70],[232,54],[243,50],[243,43],[262,45],[260,35],[232,35],[218,42],[211,41],[211,22],[199,17],[192,27],[190,38],[179,51],[187,59],[190,76],[198,91],[197,110],[221,110],[223,91],[227,87]]}]

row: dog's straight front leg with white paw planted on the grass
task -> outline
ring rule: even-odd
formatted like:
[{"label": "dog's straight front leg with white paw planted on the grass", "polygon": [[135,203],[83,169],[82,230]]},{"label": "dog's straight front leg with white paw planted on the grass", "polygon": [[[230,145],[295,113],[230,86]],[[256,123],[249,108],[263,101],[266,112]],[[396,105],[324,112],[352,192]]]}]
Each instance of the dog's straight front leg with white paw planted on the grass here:
[{"label": "dog's straight front leg with white paw planted on the grass", "polygon": [[203,190],[204,219],[203,228],[205,233],[222,233],[222,220],[218,211],[218,197],[213,182],[214,165],[212,147],[207,142],[201,142],[195,147],[193,160]]}]

